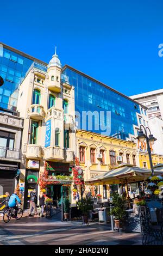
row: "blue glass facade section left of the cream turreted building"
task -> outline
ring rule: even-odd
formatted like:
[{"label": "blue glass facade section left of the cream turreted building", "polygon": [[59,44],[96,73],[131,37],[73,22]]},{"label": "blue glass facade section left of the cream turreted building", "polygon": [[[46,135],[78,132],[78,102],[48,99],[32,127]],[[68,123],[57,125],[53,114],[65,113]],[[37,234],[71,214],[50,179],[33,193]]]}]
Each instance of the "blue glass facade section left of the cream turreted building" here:
[{"label": "blue glass facade section left of the cream turreted building", "polygon": [[0,87],[0,107],[16,111],[18,86],[25,77],[33,60],[3,48],[3,56],[0,57],[0,76],[4,84]]}]

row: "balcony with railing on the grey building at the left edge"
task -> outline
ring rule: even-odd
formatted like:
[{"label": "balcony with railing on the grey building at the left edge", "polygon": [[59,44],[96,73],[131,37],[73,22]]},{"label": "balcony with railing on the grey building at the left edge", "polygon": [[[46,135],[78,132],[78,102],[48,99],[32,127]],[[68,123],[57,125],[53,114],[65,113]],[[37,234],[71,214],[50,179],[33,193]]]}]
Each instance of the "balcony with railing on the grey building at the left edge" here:
[{"label": "balcony with railing on the grey building at the left edge", "polygon": [[12,149],[0,146],[0,159],[1,160],[21,160],[22,151],[20,149]]}]

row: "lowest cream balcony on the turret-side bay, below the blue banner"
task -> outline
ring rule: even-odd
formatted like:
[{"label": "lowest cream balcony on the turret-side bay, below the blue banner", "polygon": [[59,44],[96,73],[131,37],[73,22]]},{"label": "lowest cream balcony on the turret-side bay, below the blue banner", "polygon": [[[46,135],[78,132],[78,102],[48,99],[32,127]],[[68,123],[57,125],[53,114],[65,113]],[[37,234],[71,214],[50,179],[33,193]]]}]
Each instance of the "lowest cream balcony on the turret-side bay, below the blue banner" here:
[{"label": "lowest cream balcony on the turret-side bay, below the blue banner", "polygon": [[45,148],[45,160],[64,160],[64,150],[58,147]]}]

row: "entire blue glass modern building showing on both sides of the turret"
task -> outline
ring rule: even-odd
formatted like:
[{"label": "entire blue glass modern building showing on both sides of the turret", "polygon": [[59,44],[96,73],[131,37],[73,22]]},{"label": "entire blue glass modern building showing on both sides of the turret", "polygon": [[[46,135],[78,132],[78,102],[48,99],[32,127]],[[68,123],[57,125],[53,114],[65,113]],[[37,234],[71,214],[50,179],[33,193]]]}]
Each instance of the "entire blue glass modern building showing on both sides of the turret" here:
[{"label": "entire blue glass modern building showing on both sides of the turret", "polygon": [[[16,110],[18,85],[34,65],[47,72],[47,64],[5,44],[0,58],[0,107]],[[148,125],[146,107],[109,86],[65,65],[61,79],[75,88],[75,111],[78,129],[136,142],[140,121]],[[143,109],[143,111],[141,111]],[[90,113],[85,113],[87,111]],[[88,115],[90,119],[88,120]]]}]

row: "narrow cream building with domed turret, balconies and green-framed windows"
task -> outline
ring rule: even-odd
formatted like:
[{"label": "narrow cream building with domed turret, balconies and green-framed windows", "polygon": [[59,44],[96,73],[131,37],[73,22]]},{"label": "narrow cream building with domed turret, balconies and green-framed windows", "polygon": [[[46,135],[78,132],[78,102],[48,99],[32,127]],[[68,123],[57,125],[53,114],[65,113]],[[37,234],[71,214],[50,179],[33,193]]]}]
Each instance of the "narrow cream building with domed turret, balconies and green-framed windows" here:
[{"label": "narrow cream building with domed turret, balconies and green-framed windows", "polygon": [[[29,206],[33,187],[45,161],[49,175],[70,175],[76,151],[74,88],[61,79],[61,63],[55,52],[46,66],[35,63],[20,84],[17,111],[24,117],[23,162],[20,183],[25,183],[24,208]],[[62,185],[51,185],[47,193],[60,200]]]}]

